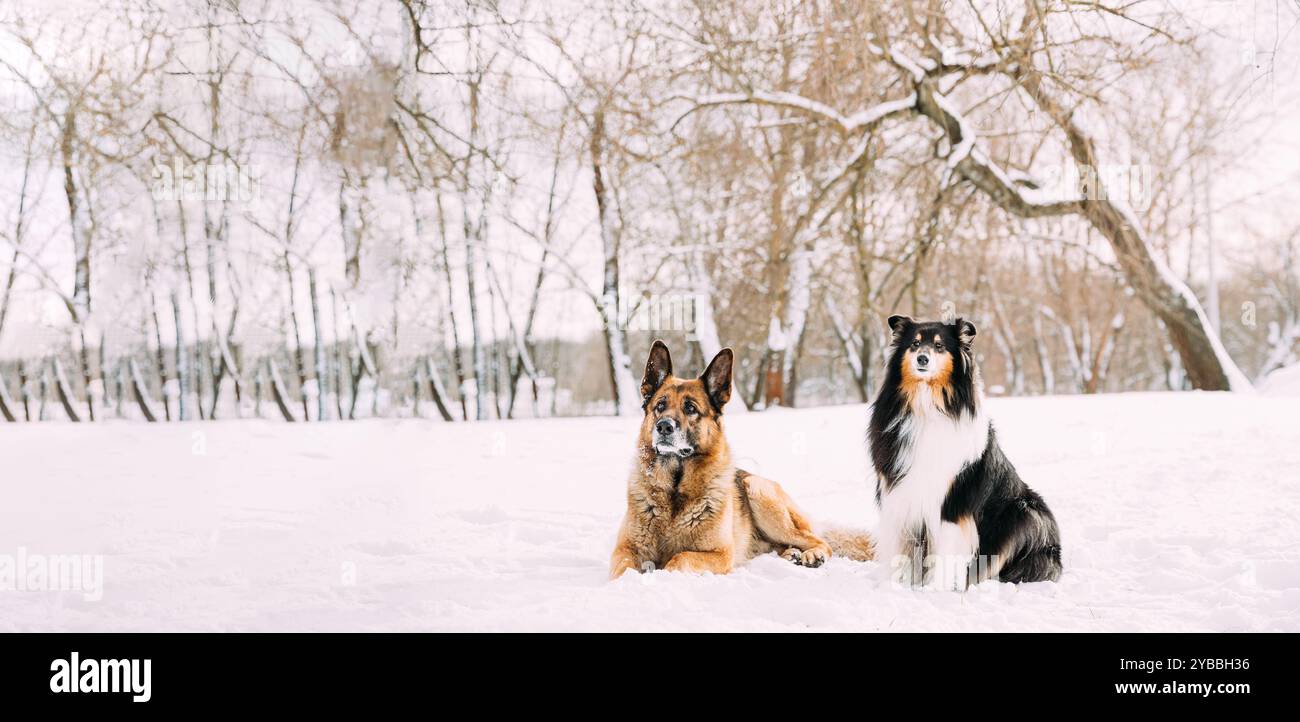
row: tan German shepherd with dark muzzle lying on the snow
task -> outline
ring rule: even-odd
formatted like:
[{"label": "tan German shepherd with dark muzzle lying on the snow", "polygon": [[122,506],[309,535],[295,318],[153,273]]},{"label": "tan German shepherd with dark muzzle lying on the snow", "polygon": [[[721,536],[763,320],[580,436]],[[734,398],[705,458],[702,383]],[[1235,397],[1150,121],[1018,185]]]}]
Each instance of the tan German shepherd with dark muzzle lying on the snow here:
[{"label": "tan German shepherd with dark muzzle lying on the snow", "polygon": [[725,574],[772,550],[816,567],[832,545],[849,558],[872,558],[870,537],[841,531],[818,536],[776,481],[732,466],[722,418],[732,358],[723,349],[699,379],[684,380],[672,375],[663,341],[650,349],[641,381],[645,418],[611,579],[654,568]]}]

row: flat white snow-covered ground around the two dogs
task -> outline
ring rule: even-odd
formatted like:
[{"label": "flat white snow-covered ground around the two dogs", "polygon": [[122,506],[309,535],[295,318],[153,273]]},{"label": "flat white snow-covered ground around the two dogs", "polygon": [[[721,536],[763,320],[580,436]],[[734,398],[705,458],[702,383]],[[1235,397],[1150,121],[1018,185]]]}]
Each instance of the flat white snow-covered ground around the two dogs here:
[{"label": "flat white snow-covered ground around the two dogs", "polygon": [[[1294,399],[991,403],[1061,522],[1057,584],[918,592],[775,555],[607,582],[627,419],[4,425],[0,555],[104,566],[99,601],[0,591],[0,630],[1300,630]],[[741,466],[870,528],[864,428],[863,406],[728,425]]]}]

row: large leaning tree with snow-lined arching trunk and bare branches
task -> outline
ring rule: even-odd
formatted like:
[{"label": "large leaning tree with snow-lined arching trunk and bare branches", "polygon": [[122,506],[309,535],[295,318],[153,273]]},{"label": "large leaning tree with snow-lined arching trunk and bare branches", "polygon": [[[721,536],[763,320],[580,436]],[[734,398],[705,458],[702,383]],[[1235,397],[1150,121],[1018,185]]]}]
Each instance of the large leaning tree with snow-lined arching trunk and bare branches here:
[{"label": "large leaning tree with snow-lined arching trunk and bare branches", "polygon": [[[846,169],[862,161],[875,133],[890,122],[920,120],[923,133],[935,137],[931,147],[945,181],[968,183],[1026,221],[1074,217],[1105,238],[1126,282],[1165,327],[1193,388],[1251,388],[1196,295],[1153,250],[1123,189],[1112,187],[1101,172],[1110,160],[1108,137],[1088,125],[1126,101],[1114,90],[1126,75],[1157,59],[1195,52],[1191,35],[1179,35],[1180,16],[1147,12],[1140,4],[1043,0],[961,7],[916,0],[905,12],[894,5],[812,3],[800,12],[801,30],[784,33],[767,51],[802,52],[811,62],[828,49],[852,48],[859,75],[871,81],[871,101],[841,111],[836,100],[861,94],[836,87],[816,94],[771,90],[772,82],[740,57],[755,44],[753,35],[741,36],[744,30],[719,16],[722,10],[702,8],[697,26],[710,35],[692,38],[688,47],[697,53],[699,77],[718,91],[685,98],[675,126],[688,114],[724,105],[798,116],[842,139],[844,151],[828,163],[819,190],[836,198],[833,189],[850,182]],[[723,53],[719,34],[728,30],[737,31],[731,40],[740,49]],[[763,48],[754,51],[754,57],[762,56]],[[1040,133],[1000,137],[996,144],[982,139],[976,114],[1006,104],[1023,108],[1017,120]],[[1072,163],[1086,182],[1070,194],[1044,193],[1034,178],[1060,174],[1063,163]]]}]

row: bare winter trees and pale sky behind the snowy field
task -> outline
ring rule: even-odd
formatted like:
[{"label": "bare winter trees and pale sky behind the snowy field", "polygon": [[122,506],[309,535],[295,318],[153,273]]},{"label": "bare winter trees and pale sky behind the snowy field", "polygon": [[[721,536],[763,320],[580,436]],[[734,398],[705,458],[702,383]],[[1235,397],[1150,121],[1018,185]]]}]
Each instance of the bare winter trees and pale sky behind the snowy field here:
[{"label": "bare winter trees and pale sky behind the snowy field", "polygon": [[870,401],[884,319],[992,395],[1297,362],[1300,4],[0,5],[0,419]]}]

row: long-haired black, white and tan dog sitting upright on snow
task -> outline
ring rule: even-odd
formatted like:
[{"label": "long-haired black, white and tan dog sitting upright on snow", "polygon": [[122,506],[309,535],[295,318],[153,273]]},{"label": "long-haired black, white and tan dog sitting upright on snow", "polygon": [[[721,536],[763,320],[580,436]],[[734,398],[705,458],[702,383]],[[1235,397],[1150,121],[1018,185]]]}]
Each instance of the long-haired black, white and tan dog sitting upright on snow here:
[{"label": "long-haired black, white and tan dog sitting upright on snow", "polygon": [[984,415],[975,325],[890,316],[889,328],[893,345],[868,431],[880,507],[876,558],[913,585],[1060,579],[1056,519],[1015,474]]}]

